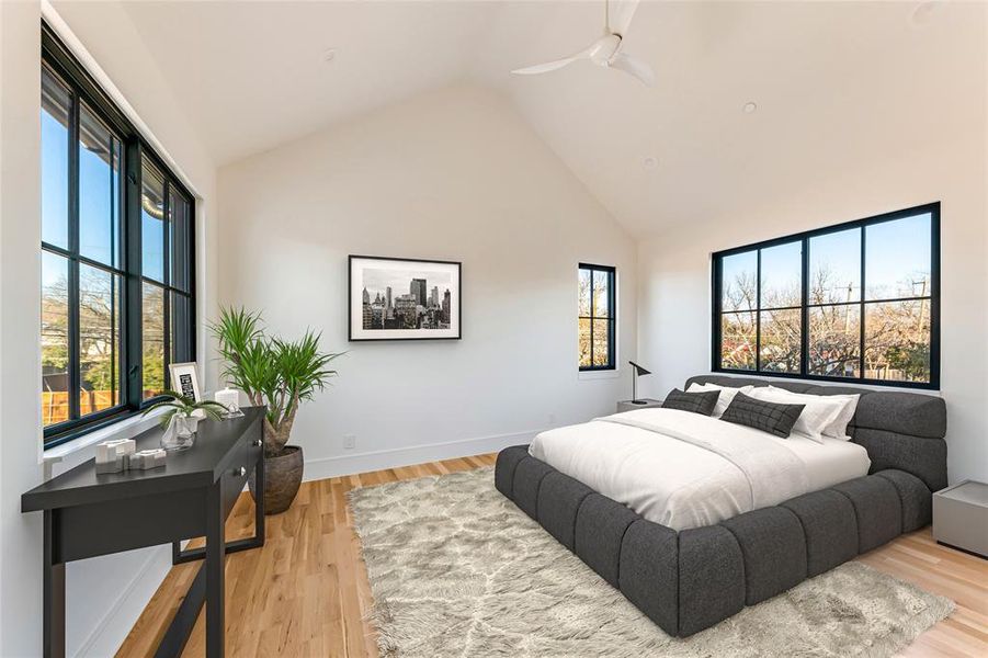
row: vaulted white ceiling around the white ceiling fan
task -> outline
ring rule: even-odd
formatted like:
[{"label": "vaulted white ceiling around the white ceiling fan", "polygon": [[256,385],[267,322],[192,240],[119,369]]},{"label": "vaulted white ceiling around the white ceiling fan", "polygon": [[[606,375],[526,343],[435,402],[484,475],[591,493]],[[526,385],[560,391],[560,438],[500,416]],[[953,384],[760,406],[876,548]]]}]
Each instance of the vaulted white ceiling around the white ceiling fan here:
[{"label": "vaulted white ceiling around the white ceiling fan", "polygon": [[595,1],[126,7],[218,163],[480,83],[638,236],[913,151],[985,113],[983,3],[646,0],[626,49],[655,69],[650,89],[586,61],[509,75],[599,36]]}]

